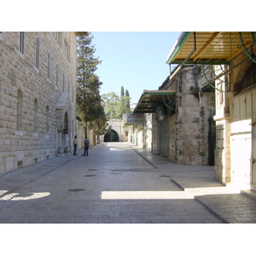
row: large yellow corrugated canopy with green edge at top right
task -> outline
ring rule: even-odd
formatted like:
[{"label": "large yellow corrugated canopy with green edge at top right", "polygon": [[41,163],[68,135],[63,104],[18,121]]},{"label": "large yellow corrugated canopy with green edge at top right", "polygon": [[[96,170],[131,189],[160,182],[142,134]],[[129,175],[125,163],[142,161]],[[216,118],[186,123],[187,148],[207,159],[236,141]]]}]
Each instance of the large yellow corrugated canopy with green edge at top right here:
[{"label": "large yellow corrugated canopy with green edge at top right", "polygon": [[242,44],[250,50],[255,37],[255,32],[183,32],[166,63],[229,64],[232,58],[244,50]]}]

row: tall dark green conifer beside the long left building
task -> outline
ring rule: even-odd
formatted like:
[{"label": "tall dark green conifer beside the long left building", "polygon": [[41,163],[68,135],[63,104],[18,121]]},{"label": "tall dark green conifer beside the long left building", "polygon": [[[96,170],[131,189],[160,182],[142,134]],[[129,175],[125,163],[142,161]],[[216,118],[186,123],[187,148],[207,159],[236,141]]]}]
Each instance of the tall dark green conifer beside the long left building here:
[{"label": "tall dark green conifer beside the long left building", "polygon": [[[96,49],[91,45],[92,38],[90,33],[77,37],[77,109],[78,119],[85,127],[104,116],[100,96],[102,82],[95,74],[102,61],[94,57]],[[84,132],[86,136],[86,129]]]}]

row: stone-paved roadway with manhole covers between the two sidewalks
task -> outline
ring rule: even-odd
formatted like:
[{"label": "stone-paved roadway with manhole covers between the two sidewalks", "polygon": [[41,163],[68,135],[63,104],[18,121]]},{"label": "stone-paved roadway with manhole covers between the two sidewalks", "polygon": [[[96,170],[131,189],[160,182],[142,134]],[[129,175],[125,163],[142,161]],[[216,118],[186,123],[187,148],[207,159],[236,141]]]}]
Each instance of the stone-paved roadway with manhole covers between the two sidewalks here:
[{"label": "stone-paved roadway with manhole covers between the two sidewalks", "polygon": [[0,197],[0,223],[223,222],[126,143],[102,143]]}]

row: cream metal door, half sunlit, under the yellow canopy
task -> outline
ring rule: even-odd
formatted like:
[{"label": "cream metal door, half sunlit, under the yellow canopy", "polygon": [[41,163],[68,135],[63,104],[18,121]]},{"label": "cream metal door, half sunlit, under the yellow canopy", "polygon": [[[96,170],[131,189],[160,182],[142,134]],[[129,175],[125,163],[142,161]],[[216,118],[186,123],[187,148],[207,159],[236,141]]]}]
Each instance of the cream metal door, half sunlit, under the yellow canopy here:
[{"label": "cream metal door, half sunlit, under the yellow canopy", "polygon": [[[252,184],[255,189],[255,91],[236,96],[233,103],[233,120],[231,123],[230,152],[233,182]],[[254,109],[253,109],[254,108]]]}]

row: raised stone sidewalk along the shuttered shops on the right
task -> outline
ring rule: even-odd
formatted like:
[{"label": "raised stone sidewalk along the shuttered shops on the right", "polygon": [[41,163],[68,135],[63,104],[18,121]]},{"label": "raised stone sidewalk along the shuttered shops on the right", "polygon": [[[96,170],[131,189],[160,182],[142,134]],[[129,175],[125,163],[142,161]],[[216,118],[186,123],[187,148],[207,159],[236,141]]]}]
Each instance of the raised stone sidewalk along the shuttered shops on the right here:
[{"label": "raised stone sidewalk along the shuttered shops on the right", "polygon": [[169,177],[173,183],[194,196],[224,223],[256,223],[256,193],[218,183],[214,177],[214,166],[178,165],[147,149],[136,146],[131,148],[160,170],[164,176]]}]

